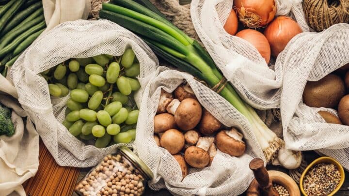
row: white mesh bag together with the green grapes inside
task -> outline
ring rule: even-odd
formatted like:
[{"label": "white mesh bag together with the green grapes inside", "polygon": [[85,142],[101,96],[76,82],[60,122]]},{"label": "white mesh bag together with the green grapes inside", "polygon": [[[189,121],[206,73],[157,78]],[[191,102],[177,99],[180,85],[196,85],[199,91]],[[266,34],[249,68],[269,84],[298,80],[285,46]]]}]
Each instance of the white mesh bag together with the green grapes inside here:
[{"label": "white mesh bag together with the green grapes inside", "polygon": [[136,97],[158,64],[123,27],[77,20],[44,32],[16,60],[10,79],[56,162],[88,167],[123,143],[134,145]]}]

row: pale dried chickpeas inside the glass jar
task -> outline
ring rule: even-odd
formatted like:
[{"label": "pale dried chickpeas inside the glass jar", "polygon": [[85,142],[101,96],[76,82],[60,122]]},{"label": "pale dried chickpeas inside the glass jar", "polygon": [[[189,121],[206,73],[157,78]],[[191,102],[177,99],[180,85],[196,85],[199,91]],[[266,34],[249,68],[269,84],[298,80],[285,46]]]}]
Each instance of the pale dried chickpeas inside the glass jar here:
[{"label": "pale dried chickpeas inside the glass jar", "polygon": [[141,196],[144,178],[120,154],[108,155],[77,184],[83,196]]}]

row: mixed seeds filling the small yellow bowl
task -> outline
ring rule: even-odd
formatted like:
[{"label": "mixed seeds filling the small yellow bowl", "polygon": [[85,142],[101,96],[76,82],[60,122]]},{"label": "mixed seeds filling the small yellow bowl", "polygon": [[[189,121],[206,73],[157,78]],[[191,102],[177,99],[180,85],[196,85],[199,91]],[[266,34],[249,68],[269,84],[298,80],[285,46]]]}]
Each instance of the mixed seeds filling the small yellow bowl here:
[{"label": "mixed seeds filling the small yellow bowl", "polygon": [[338,186],[340,180],[341,175],[336,166],[321,163],[306,173],[303,188],[308,196],[327,196]]}]

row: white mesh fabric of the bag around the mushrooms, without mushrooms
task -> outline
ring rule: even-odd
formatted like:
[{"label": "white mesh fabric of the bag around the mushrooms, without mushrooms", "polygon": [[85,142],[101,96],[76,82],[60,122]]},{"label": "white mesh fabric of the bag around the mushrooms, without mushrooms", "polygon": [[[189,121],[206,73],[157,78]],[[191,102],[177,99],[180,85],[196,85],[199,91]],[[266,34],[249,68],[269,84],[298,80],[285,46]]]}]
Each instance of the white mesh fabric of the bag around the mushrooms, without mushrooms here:
[{"label": "white mesh fabric of the bag around the mushrooms, without mushrooms", "polygon": [[[211,166],[203,169],[190,168],[190,174],[182,181],[182,172],[176,160],[167,150],[155,143],[153,127],[161,88],[172,92],[183,79],[187,80],[203,107],[224,125],[235,126],[243,133],[247,148],[245,154],[240,157],[232,157],[218,150]],[[149,81],[141,103],[135,149],[155,174],[153,181],[149,182],[152,189],[167,188],[177,195],[236,196],[243,193],[254,179],[249,169],[250,161],[255,157],[265,161],[246,118],[223,97],[195,80],[192,75],[159,67],[159,75]]]}]

